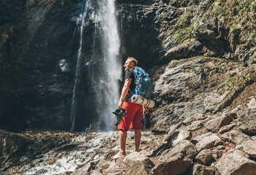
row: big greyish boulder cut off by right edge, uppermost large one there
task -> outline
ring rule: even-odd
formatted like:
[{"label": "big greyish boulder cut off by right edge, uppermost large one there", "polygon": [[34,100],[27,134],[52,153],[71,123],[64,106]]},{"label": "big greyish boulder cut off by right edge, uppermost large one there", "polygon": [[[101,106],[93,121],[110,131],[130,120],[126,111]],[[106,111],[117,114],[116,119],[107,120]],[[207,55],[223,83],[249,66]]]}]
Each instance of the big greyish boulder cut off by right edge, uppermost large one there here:
[{"label": "big greyish boulder cut off by right edge, uppermost large one there", "polygon": [[256,133],[256,108],[238,111],[238,125],[246,133]]}]

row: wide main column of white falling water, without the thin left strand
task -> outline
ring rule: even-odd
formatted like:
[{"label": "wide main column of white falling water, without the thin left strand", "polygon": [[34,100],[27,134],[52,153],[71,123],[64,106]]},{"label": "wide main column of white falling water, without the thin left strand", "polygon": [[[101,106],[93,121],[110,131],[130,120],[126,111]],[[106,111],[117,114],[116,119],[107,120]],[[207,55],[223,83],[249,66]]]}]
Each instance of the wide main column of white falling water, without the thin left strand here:
[{"label": "wide main column of white falling water, without the thin left strand", "polygon": [[120,39],[116,19],[115,0],[99,1],[100,27],[102,28],[102,51],[105,76],[99,79],[97,104],[101,106],[99,122],[105,128],[113,127],[113,111],[118,104],[118,79],[121,79],[121,61],[118,59]]}]

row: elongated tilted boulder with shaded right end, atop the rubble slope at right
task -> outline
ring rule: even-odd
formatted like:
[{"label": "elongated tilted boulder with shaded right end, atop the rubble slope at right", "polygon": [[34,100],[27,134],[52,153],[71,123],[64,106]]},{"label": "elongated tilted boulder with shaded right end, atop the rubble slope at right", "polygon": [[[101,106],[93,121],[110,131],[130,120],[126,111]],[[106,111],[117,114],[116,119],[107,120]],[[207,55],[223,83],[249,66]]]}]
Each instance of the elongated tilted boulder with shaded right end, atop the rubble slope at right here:
[{"label": "elongated tilted boulder with shaded right end, atop the rubble slope at right", "polygon": [[213,120],[208,121],[205,126],[210,131],[218,131],[222,126],[229,124],[233,118],[236,117],[236,113],[225,113],[220,117],[216,117]]}]

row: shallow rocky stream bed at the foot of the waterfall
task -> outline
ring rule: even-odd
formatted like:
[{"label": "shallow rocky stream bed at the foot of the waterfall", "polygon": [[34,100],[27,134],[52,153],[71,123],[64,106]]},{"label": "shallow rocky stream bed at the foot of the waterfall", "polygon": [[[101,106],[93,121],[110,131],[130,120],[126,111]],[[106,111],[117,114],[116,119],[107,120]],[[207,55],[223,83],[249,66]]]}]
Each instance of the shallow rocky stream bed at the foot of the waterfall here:
[{"label": "shallow rocky stream bed at the foot of the waterfall", "polygon": [[[13,152],[10,149],[8,151],[12,152],[12,156],[7,158],[4,155],[1,158],[4,160],[1,161],[1,174],[72,174],[85,165],[95,166],[99,162],[113,163],[111,157],[118,152],[118,131],[107,133],[90,131],[76,134],[59,131],[26,131],[12,135],[16,136],[15,139],[10,140],[17,150]],[[143,131],[142,135],[141,151],[151,155],[151,150],[157,149],[163,135],[154,135],[148,131]],[[22,139],[20,141],[22,144],[17,144],[18,139]],[[134,134],[129,132],[127,154],[133,150]]]}]

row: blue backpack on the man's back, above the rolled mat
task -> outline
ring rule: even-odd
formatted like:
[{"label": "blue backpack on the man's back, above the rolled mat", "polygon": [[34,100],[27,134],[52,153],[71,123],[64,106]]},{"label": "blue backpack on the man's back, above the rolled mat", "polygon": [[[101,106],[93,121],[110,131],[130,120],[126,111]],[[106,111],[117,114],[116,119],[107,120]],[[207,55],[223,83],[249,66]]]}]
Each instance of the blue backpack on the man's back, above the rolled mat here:
[{"label": "blue backpack on the man's back, above the rolled mat", "polygon": [[153,85],[150,78],[148,77],[148,74],[142,68],[136,66],[134,75],[135,89],[133,90],[132,95],[148,98],[153,91]]}]

